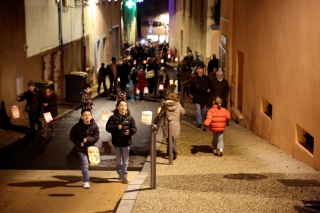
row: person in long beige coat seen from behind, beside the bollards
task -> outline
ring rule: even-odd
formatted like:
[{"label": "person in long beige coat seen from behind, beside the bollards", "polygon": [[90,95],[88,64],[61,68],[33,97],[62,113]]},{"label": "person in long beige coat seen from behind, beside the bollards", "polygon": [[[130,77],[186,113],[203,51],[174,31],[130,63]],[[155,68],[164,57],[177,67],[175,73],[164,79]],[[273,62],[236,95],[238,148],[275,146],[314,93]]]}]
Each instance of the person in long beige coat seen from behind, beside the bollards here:
[{"label": "person in long beige coat seen from behind, beside the bollards", "polygon": [[[165,100],[162,102],[161,110],[157,117],[154,119],[153,123],[157,124],[163,118],[162,130],[163,137],[166,138],[168,142],[168,117],[171,118],[172,123],[172,152],[173,160],[177,158],[178,152],[176,150],[176,139],[180,135],[180,115],[185,113],[184,108],[181,106],[177,94],[171,90],[167,90],[165,93]],[[169,146],[167,147],[167,155],[169,155]]]}]

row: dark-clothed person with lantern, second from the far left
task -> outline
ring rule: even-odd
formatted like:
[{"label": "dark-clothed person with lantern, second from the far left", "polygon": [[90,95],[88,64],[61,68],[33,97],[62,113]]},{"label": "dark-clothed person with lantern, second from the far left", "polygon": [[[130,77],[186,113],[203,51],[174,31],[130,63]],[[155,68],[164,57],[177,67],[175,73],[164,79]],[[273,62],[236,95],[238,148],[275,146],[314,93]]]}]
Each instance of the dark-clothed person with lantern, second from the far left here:
[{"label": "dark-clothed person with lantern, second from the far left", "polygon": [[47,138],[47,131],[49,124],[51,125],[51,137],[55,137],[55,125],[54,121],[57,120],[58,116],[58,97],[56,93],[52,90],[50,86],[46,86],[44,90],[44,94],[42,97],[42,106],[44,107],[43,112],[49,112],[53,118],[53,120],[44,123],[44,133],[42,137]]}]

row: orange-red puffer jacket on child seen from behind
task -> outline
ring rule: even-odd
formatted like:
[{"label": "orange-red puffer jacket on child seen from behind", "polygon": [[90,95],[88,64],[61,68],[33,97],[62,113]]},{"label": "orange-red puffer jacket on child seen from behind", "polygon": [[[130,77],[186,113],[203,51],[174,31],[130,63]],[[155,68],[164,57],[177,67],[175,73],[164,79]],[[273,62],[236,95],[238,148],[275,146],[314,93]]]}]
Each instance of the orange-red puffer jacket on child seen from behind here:
[{"label": "orange-red puffer jacket on child seen from behind", "polygon": [[228,110],[221,107],[218,109],[217,105],[213,105],[207,112],[204,126],[208,126],[212,132],[224,132],[226,130],[226,123],[231,116]]}]

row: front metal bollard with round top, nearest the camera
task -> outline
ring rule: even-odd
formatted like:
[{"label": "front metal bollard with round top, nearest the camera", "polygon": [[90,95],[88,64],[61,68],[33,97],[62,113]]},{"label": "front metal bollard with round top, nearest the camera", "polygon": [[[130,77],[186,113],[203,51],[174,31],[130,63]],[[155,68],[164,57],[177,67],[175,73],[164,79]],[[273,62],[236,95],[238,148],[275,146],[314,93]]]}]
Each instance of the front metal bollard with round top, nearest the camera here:
[{"label": "front metal bollard with round top, nearest the camera", "polygon": [[157,125],[152,124],[151,129],[151,189],[156,188],[156,163],[157,163]]}]

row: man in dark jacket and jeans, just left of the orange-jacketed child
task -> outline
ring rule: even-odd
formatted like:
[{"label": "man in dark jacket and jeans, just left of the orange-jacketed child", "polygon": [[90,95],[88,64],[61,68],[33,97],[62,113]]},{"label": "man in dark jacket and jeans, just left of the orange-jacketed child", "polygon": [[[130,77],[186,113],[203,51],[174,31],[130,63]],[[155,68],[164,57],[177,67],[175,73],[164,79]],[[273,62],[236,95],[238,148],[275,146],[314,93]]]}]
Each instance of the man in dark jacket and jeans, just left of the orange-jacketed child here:
[{"label": "man in dark jacket and jeans, just left of the orange-jacketed child", "polygon": [[191,79],[189,92],[193,96],[193,102],[196,104],[197,127],[201,128],[206,115],[206,104],[212,85],[210,78],[203,74],[203,65],[198,65],[196,72],[198,75]]}]

